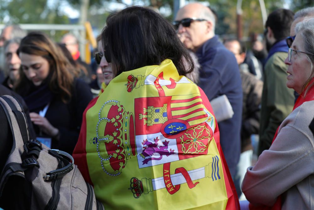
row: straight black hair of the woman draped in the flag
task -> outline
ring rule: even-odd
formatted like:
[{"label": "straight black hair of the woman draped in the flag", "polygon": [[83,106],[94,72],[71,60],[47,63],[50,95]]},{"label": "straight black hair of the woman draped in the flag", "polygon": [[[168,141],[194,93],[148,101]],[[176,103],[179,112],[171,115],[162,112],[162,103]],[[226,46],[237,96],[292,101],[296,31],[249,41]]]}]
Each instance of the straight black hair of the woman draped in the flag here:
[{"label": "straight black hair of the woman draped in the flag", "polygon": [[153,9],[129,7],[109,15],[106,23],[102,43],[115,76],[147,65],[160,65],[165,59],[172,60],[180,75],[193,70],[192,58],[174,27]]}]

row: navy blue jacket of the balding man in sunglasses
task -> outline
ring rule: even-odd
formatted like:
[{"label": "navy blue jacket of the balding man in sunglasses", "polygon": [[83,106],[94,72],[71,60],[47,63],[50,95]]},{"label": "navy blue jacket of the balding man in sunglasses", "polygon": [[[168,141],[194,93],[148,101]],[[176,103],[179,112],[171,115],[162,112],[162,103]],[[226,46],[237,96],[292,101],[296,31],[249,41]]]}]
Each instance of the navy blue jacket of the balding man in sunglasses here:
[{"label": "navy blue jacket of the balding man in sunglasses", "polygon": [[241,153],[242,86],[235,56],[219,42],[218,36],[206,41],[196,52],[202,66],[199,87],[209,100],[226,95],[234,115],[231,119],[218,123],[220,144],[228,163],[231,176],[236,174],[236,166]]}]

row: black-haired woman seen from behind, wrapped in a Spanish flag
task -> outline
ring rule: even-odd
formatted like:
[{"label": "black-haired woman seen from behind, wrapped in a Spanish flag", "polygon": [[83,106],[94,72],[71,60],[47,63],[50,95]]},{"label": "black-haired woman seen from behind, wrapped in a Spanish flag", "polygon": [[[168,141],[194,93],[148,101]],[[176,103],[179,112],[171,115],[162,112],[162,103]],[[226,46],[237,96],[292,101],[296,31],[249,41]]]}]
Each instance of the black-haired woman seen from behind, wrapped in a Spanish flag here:
[{"label": "black-haired woman seen from behind, wrapped in a Spanish flag", "polygon": [[73,152],[106,209],[239,209],[211,105],[185,75],[193,61],[160,14],[107,19],[116,77],[90,102]]}]

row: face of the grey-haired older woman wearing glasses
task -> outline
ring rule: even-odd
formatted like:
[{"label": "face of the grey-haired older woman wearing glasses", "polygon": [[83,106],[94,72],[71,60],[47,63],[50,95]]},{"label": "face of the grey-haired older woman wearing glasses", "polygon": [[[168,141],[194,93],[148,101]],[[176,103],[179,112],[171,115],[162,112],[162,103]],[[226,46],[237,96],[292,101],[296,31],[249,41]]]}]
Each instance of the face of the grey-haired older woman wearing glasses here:
[{"label": "face of the grey-haired older woman wearing glasses", "polygon": [[[303,38],[300,33],[296,34],[291,48],[305,52]],[[288,65],[287,87],[293,88],[299,94],[302,93],[306,81],[310,77],[313,77],[313,75],[311,75],[311,63],[306,56],[305,53],[292,51],[291,61],[289,61],[289,56],[284,61],[285,64]]]}]

